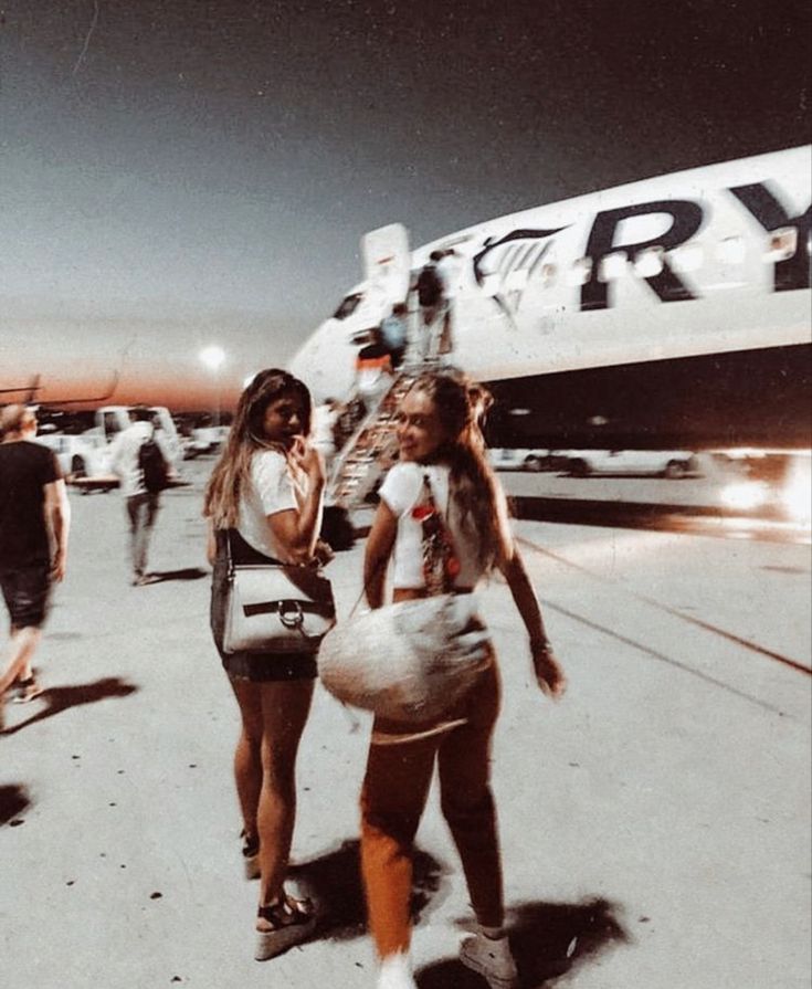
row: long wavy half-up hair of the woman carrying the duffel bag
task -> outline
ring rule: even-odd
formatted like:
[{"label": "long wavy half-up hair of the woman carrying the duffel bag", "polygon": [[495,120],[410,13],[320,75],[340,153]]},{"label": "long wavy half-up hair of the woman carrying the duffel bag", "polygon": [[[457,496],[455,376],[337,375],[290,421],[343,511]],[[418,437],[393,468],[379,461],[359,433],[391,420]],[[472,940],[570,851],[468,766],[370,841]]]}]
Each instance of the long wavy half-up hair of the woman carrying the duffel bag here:
[{"label": "long wavy half-up hair of the woman carrying the duffel bag", "polygon": [[491,392],[462,371],[428,371],[412,385],[434,402],[447,439],[434,457],[449,464],[452,493],[450,513],[476,547],[479,564],[491,570],[513,556],[507,502],[487,460],[482,433]]}]

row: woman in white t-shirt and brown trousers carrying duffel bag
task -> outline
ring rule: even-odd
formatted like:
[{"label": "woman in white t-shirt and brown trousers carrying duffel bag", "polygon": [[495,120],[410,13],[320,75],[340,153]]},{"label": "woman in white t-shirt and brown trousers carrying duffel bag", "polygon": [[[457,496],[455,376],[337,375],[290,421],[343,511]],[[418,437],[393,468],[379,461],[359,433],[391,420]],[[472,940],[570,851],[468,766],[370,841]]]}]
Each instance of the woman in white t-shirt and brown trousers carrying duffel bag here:
[{"label": "woman in white t-shirt and brown trousers carrying duffel bag", "polygon": [[[381,485],[367,543],[367,598],[372,608],[383,603],[390,560],[394,601],[449,586],[468,593],[489,570],[500,570],[527,628],[538,684],[557,698],[565,675],[510,533],[504,493],[485,456],[479,422],[489,401],[481,386],[456,371],[423,375],[403,398],[400,462]],[[437,566],[443,571],[440,582]],[[386,656],[379,661],[386,662]],[[408,958],[411,853],[435,761],[443,814],[478,922],[477,933],[461,946],[461,960],[494,989],[516,985],[516,965],[503,929],[502,865],[489,783],[498,707],[499,678],[492,656],[478,682],[441,723],[415,730],[376,717],[361,793],[361,865],[369,926],[381,959],[379,989],[416,989]]]}]

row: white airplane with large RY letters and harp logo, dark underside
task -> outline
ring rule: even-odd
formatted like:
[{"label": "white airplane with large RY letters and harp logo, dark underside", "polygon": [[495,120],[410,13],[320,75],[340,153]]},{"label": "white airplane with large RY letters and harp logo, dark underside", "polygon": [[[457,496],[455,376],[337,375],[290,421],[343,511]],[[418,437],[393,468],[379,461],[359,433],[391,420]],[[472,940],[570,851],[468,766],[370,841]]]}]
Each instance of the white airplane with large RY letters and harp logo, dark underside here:
[{"label": "white airplane with large RY letters and harp logo, dark underside", "polygon": [[351,392],[360,343],[453,252],[453,362],[496,403],[502,448],[812,445],[812,146],[658,176],[499,217],[409,250],[362,242],[365,278],[289,370]]}]

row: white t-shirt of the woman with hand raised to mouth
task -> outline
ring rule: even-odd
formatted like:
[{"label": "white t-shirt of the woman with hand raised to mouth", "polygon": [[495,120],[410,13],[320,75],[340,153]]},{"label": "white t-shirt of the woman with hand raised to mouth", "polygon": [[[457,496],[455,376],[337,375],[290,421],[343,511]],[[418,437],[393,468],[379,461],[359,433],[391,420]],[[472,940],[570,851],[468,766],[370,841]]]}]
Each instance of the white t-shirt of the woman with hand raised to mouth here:
[{"label": "white t-shirt of the woman with hand raised to mouth", "polygon": [[[289,562],[276,544],[267,516],[291,508],[300,509],[306,496],[306,478],[295,477],[284,454],[260,450],[251,460],[251,483],[240,498],[238,530],[257,553]],[[319,520],[320,525],[320,520]]]}]

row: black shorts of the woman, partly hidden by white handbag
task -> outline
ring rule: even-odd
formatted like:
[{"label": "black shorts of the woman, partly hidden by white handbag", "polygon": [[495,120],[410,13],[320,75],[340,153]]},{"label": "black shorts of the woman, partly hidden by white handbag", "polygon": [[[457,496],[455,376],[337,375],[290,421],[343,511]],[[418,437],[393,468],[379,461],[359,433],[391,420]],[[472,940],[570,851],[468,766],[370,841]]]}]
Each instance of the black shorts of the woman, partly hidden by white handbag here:
[{"label": "black shorts of the woman, partly hidden by white handbag", "polygon": [[[231,529],[234,561],[239,564],[267,562],[235,529]],[[280,680],[315,680],[317,675],[316,653],[257,653],[223,652],[223,631],[225,629],[225,606],[228,599],[228,560],[223,530],[217,534],[217,557],[211,581],[210,624],[214,645],[220,653],[223,669],[235,680],[247,680],[251,683],[270,683]]]}]

